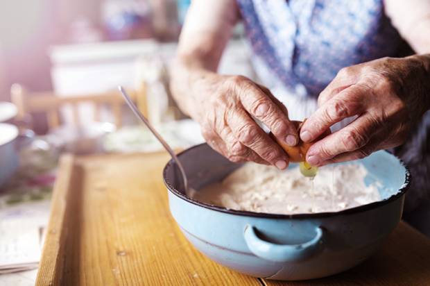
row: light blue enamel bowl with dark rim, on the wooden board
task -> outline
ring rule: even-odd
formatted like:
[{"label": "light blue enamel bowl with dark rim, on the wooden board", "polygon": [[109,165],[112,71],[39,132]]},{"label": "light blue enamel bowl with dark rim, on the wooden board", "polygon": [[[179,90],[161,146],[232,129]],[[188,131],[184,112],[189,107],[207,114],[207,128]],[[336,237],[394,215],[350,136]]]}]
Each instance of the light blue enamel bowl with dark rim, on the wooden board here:
[{"label": "light blue enamel bowl with dark rim, on the wooden board", "polygon": [[[178,155],[199,190],[221,180],[240,165],[207,144]],[[341,212],[266,214],[227,210],[190,199],[171,160],[164,183],[175,221],[196,249],[243,274],[276,280],[304,280],[337,274],[354,267],[384,243],[402,216],[409,173],[386,151],[360,160],[370,171],[366,183],[380,180],[381,201]]]}]

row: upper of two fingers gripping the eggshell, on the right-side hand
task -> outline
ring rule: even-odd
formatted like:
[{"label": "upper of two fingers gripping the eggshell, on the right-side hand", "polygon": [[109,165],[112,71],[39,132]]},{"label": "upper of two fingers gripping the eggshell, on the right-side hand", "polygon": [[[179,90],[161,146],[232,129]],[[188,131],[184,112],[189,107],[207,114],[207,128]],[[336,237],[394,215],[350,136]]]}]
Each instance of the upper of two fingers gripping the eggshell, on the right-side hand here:
[{"label": "upper of two fingers gripping the eggshell, on the right-side hand", "polygon": [[361,85],[353,85],[334,96],[316,110],[303,124],[300,138],[304,142],[316,140],[333,124],[365,110],[365,90]]}]

